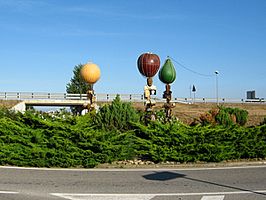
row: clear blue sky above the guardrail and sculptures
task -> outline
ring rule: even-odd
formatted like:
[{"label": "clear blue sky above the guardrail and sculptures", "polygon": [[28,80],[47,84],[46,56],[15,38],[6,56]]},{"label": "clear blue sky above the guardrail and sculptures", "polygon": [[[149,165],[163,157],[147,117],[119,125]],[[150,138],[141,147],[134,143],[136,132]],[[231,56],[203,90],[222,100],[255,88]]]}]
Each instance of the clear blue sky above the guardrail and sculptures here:
[{"label": "clear blue sky above the guardrail and sculptures", "polygon": [[[65,92],[75,65],[102,71],[96,93],[143,93],[143,52],[219,74],[219,96],[266,97],[265,0],[0,0],[0,91]],[[215,76],[174,63],[175,97],[215,97]],[[164,85],[154,78],[161,95]]]}]

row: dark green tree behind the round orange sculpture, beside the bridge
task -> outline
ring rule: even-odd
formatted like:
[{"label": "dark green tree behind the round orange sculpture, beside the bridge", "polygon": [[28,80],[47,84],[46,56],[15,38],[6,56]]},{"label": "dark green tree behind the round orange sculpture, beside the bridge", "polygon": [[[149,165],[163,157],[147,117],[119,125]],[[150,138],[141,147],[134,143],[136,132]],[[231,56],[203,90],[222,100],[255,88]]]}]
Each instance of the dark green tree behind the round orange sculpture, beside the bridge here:
[{"label": "dark green tree behind the round orange sculpture, beside the bridge", "polygon": [[[70,79],[70,82],[66,86],[66,92],[69,94],[86,94],[88,89],[91,89],[91,85],[86,83],[81,75],[80,70],[83,67],[82,64],[76,65],[73,70],[73,77]],[[70,107],[73,114],[78,114],[82,111],[80,106]]]}]

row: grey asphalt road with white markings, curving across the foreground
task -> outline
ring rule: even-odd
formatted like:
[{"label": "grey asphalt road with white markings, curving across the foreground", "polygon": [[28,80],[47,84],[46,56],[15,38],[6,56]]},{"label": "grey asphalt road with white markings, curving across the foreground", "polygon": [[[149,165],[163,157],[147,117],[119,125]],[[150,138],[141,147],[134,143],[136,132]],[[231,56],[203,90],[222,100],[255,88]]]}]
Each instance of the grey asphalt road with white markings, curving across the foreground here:
[{"label": "grey asphalt road with white markings, curving across the foreground", "polygon": [[265,200],[266,166],[214,169],[0,168],[0,200]]}]

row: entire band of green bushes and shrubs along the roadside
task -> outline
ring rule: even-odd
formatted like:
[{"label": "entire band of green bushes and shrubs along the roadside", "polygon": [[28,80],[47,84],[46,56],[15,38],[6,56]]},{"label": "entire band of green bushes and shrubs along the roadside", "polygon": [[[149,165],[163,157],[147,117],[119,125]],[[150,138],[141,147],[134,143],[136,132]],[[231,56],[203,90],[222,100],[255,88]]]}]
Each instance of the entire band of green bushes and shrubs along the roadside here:
[{"label": "entire band of green bushes and shrubs along the roadside", "polygon": [[142,123],[143,113],[117,97],[99,112],[24,114],[0,109],[0,165],[95,167],[140,159],[154,163],[266,158],[266,123],[244,126],[245,110],[217,107],[189,126],[172,119]]}]

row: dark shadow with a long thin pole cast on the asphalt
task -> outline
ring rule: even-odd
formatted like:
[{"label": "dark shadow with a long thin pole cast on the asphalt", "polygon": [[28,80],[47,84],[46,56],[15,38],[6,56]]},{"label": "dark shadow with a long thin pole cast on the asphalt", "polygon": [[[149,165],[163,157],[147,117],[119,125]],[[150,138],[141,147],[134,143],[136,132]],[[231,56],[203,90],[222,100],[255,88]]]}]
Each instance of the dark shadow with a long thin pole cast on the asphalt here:
[{"label": "dark shadow with a long thin pole cast on the asphalt", "polygon": [[180,174],[180,173],[176,173],[176,172],[169,172],[169,171],[153,172],[151,174],[143,175],[143,178],[145,178],[147,180],[153,180],[153,181],[168,181],[168,180],[173,180],[173,179],[177,179],[177,178],[182,178],[182,179],[195,181],[195,182],[199,182],[199,183],[205,183],[205,184],[215,185],[215,186],[219,186],[219,187],[223,187],[223,188],[229,188],[229,189],[234,189],[234,190],[238,190],[238,191],[244,191],[244,192],[249,192],[249,193],[253,193],[253,194],[266,196],[266,194],[262,193],[262,192],[257,192],[257,191],[253,191],[253,190],[249,190],[249,189],[245,189],[245,188],[240,188],[240,187],[231,186],[231,185],[225,185],[225,184],[216,183],[216,182],[211,182],[211,181],[207,181],[207,180],[191,178],[185,174]]}]

